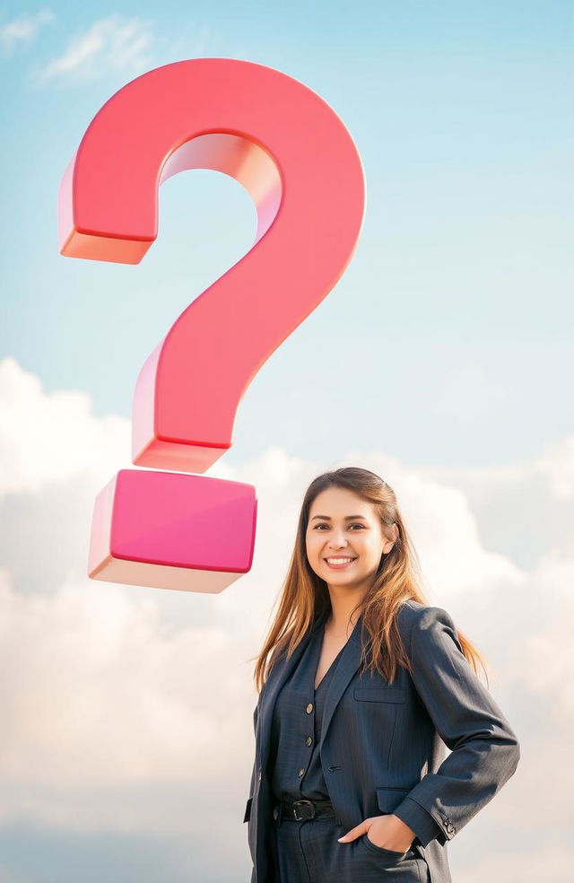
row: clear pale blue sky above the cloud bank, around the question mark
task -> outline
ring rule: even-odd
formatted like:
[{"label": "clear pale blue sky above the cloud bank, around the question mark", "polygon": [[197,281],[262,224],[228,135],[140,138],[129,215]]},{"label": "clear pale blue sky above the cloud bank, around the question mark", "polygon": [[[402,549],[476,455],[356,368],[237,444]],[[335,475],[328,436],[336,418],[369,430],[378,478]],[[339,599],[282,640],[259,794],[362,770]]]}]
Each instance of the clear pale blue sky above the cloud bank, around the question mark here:
[{"label": "clear pale blue sky above the cloud bank, around the question mark", "polygon": [[[10,39],[4,7],[2,78],[0,346],[45,389],[129,416],[145,357],[251,247],[247,193],[209,171],[162,186],[160,235],[137,267],[62,258],[56,243],[57,185],[101,104],[154,66],[240,57],[344,118],[368,207],[346,274],[248,388],[230,461],[262,441],[329,460],[384,437],[413,463],[493,464],[570,426],[557,382],[572,357],[570,4],[50,10],[30,7],[35,35]],[[317,420],[342,404],[352,420]]]}]

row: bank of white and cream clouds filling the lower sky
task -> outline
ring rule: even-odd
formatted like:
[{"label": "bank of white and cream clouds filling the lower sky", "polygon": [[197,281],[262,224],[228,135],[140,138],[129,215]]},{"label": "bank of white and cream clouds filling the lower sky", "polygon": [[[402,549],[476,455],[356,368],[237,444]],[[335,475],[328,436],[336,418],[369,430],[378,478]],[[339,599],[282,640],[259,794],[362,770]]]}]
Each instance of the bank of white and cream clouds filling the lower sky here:
[{"label": "bank of white and cream clouds filling the lower sky", "polygon": [[[240,468],[222,459],[208,470],[257,486],[254,566],[221,595],[117,586],[88,580],[85,557],[94,495],[129,466],[128,442],[128,422],[95,418],[83,392],[47,393],[12,358],[0,363],[0,821],[193,831],[214,845],[223,826],[239,843],[256,702],[248,657],[281,587],[302,494],[322,467],[273,448]],[[559,448],[568,471],[572,448]],[[470,500],[485,486],[500,508],[496,494],[511,486],[503,519],[517,521],[519,541],[517,487],[530,494],[533,476],[544,485],[535,507],[544,520],[555,472],[539,459],[484,470],[481,484],[479,470],[430,476],[379,451],[351,452],[329,468],[349,464],[395,488],[431,603],[485,654],[491,692],[521,739],[517,774],[451,844],[453,871],[465,883],[508,879],[511,862],[526,867],[524,844],[527,868],[544,867],[552,837],[567,844],[570,835],[574,559],[551,533],[533,566],[518,565],[483,540]],[[561,758],[560,775],[548,774],[548,757]],[[552,830],[540,825],[544,807]],[[556,852],[552,861],[555,876],[545,879],[561,879],[567,859]]]}]

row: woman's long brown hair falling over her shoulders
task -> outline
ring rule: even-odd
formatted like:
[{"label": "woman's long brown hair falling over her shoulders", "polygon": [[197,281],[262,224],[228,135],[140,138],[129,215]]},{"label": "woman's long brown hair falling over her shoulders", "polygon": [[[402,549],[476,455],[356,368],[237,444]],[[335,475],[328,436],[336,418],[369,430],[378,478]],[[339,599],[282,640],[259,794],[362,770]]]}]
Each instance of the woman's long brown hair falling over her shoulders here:
[{"label": "woman's long brown hair falling over her shoulders", "polygon": [[[362,621],[368,634],[367,644],[361,654],[361,670],[367,667],[376,668],[390,684],[395,679],[397,665],[402,665],[409,672],[413,671],[411,660],[407,658],[401,641],[396,614],[406,599],[429,606],[417,581],[417,577],[420,578],[421,575],[418,557],[404,526],[393,488],[368,469],[345,467],[314,478],[303,498],[295,547],[283,581],[274,622],[261,652],[257,657],[251,658],[257,659],[254,669],[257,693],[265,685],[278,656],[286,649],[289,659],[317,616],[331,607],[326,581],[318,577],[309,564],[306,534],[311,504],[317,494],[333,486],[350,490],[372,503],[387,539],[393,538],[390,530],[393,523],[398,530],[398,537],[390,552],[381,555],[377,575],[370,590],[353,609],[354,613],[354,610],[362,606]],[[475,674],[478,674],[480,662],[488,682],[483,655],[458,629],[457,638],[465,659],[473,666]]]}]

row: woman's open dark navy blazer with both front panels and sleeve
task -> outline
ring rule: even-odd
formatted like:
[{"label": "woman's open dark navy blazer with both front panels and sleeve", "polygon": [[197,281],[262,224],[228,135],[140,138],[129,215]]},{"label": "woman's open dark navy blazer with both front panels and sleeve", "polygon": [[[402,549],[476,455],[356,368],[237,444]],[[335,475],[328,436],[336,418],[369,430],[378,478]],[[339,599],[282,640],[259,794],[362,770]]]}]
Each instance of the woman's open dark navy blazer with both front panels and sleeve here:
[{"label": "woman's open dark navy blazer with both front panels and sleeve", "polygon": [[[256,754],[243,819],[251,883],[268,883],[273,794],[266,765],[274,702],[325,620],[326,613],[317,618],[290,660],[283,653],[276,661],[253,715]],[[402,666],[392,685],[378,671],[360,676],[360,616],[325,697],[321,764],[345,831],[370,816],[394,813],[415,832],[431,883],[450,883],[448,841],[515,772],[518,740],[466,661],[446,610],[407,600],[397,624],[413,676]],[[446,758],[445,744],[451,751]]]}]

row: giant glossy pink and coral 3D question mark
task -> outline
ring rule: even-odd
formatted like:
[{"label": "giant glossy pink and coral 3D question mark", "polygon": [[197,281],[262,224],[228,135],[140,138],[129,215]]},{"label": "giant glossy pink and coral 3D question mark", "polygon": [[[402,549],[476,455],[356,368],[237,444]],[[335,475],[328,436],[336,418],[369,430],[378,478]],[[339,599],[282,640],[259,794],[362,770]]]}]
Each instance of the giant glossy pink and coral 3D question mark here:
[{"label": "giant glossy pink and coral 3D question mark", "polygon": [[97,495],[92,579],[219,592],[253,560],[252,485],[204,472],[228,450],[248,384],[343,275],[361,233],[361,158],[307,86],[270,67],[194,58],[158,67],[98,111],[62,178],[68,258],[137,264],[157,236],[158,188],[223,171],[257,205],[254,246],[184,310],[143,364],[132,460]]}]

